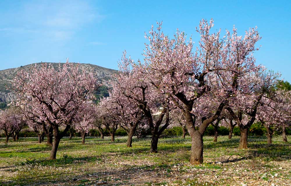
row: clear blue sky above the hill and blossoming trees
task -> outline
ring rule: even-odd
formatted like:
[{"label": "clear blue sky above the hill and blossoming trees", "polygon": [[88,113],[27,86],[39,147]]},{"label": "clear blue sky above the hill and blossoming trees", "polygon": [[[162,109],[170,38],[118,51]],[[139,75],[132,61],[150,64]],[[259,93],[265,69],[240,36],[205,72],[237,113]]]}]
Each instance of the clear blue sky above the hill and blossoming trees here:
[{"label": "clear blue sky above the hill and blossoming trees", "polygon": [[[264,2],[264,3],[262,3]],[[144,32],[156,21],[193,34],[201,18],[243,35],[258,26],[257,63],[291,82],[290,1],[0,1],[0,70],[35,62],[90,63],[117,69],[124,50],[142,59]]]}]

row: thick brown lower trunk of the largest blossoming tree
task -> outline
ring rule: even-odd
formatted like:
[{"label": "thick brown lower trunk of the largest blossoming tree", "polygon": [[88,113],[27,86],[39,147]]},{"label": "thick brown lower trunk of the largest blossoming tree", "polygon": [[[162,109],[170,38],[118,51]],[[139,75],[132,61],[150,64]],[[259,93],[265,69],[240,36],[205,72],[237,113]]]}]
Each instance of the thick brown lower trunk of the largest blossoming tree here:
[{"label": "thick brown lower trunk of the largest blossoming tree", "polygon": [[203,136],[198,130],[194,130],[191,135],[191,164],[203,163]]}]

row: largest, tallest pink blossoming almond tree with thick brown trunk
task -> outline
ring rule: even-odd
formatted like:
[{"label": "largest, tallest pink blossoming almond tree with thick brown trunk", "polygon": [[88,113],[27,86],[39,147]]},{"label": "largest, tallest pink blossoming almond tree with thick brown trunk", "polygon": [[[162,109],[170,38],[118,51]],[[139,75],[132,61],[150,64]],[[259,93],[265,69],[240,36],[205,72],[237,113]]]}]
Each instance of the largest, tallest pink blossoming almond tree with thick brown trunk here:
[{"label": "largest, tallest pink blossoming almond tree with thick brown trunk", "polygon": [[[246,31],[244,38],[227,31],[221,37],[220,30],[210,33],[213,20],[202,19],[197,32],[201,39],[196,51],[192,51],[190,38],[186,41],[184,32],[177,30],[173,39],[164,35],[159,24],[157,31],[150,30],[145,35],[149,44],[145,46],[145,73],[151,83],[159,90],[169,95],[175,105],[182,110],[186,119],[187,129],[192,139],[190,162],[203,162],[203,133],[207,126],[215,121],[229,99],[240,87],[240,77],[257,71],[252,53],[255,43],[260,39],[255,28]],[[205,118],[197,130],[196,115],[192,110],[199,107],[199,99],[206,92],[216,99],[217,108],[211,116]],[[200,123],[200,122],[199,122]]]}]

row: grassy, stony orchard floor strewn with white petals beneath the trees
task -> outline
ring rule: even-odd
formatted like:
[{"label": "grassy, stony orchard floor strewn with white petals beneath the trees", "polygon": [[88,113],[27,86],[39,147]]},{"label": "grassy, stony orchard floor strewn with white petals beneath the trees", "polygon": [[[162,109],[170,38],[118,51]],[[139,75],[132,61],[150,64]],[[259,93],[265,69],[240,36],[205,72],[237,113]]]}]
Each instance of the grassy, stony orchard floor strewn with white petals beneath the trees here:
[{"label": "grassy, stony orchard floor strewn with white petals beneath the trees", "polygon": [[159,153],[150,154],[150,138],[61,140],[57,159],[51,147],[36,138],[5,144],[0,139],[0,185],[291,185],[291,138],[281,136],[267,145],[265,137],[249,137],[249,149],[237,149],[239,137],[204,139],[204,163],[189,164],[191,139],[159,140]]}]

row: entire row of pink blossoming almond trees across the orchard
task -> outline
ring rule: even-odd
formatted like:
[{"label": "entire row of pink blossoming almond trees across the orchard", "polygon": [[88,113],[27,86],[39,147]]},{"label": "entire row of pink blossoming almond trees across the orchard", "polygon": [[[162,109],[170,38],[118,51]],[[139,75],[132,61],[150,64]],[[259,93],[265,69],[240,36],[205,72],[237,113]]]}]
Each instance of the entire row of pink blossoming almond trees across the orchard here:
[{"label": "entire row of pink blossoming almond trees across the orchard", "polygon": [[193,49],[192,38],[187,41],[184,32],[177,30],[171,38],[162,32],[162,23],[157,24],[157,29],[152,26],[145,34],[144,60],[134,62],[124,52],[119,74],[109,82],[109,97],[98,105],[92,100],[101,83],[76,64],[67,61],[58,69],[43,64],[18,72],[14,104],[31,128],[41,128],[48,139],[54,135],[51,159],[70,128],[81,131],[84,139],[92,123],[104,125],[112,141],[120,125],[128,133],[129,147],[134,133],[148,128],[150,152],[156,153],[160,135],[178,119],[191,136],[190,162],[199,164],[203,134],[210,124],[234,122],[241,133],[239,148],[245,149],[255,120],[266,126],[290,122],[290,91],[274,89],[279,74],[255,64],[253,54],[259,50],[255,44],[261,39],[256,28],[244,37],[237,35],[235,27],[221,36],[221,30],[210,32],[212,19],[202,19],[196,28],[200,41]]}]

